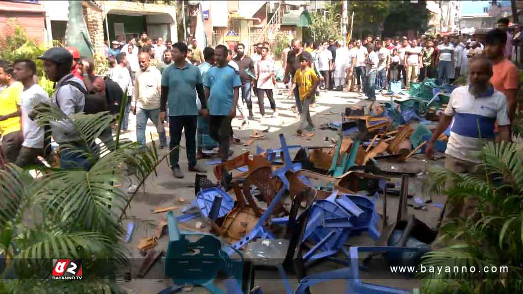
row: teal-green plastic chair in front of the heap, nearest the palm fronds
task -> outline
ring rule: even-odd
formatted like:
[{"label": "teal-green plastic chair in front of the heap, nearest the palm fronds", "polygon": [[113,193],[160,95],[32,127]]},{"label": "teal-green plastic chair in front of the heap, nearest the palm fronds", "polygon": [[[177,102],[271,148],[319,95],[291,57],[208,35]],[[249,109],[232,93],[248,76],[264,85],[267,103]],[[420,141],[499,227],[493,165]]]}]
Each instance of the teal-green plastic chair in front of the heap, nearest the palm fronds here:
[{"label": "teal-green plastic chair in front of the heap, nearest the palm fronds", "polygon": [[220,240],[214,235],[181,232],[173,211],[167,213],[167,226],[169,243],[164,271],[174,284],[203,286],[213,294],[223,294],[224,292],[214,285],[218,272],[223,272],[227,277],[235,279],[233,285],[228,285],[228,288],[231,287],[234,291],[228,293],[241,293],[242,253],[233,249],[239,256],[233,259],[222,249]]}]

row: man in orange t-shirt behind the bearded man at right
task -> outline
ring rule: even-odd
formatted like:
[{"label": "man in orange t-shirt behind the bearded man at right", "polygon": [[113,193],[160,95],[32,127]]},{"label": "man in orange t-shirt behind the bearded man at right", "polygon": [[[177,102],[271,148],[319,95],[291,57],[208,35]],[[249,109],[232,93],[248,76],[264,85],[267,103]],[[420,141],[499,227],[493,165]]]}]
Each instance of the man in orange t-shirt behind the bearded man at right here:
[{"label": "man in orange t-shirt behind the bearded man at right", "polygon": [[501,29],[493,29],[487,33],[484,53],[492,62],[494,75],[491,84],[507,97],[508,117],[514,120],[517,108],[517,91],[519,86],[519,71],[508,59],[505,58],[507,34]]}]

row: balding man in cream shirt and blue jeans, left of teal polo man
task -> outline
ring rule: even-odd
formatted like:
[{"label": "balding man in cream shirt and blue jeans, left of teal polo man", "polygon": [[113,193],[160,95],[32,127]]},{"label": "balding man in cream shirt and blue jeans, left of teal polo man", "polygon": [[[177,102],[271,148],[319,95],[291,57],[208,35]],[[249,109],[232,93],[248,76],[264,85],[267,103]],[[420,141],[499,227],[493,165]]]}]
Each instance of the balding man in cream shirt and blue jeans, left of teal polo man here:
[{"label": "balding man in cream shirt and blue jeans, left of teal polo man", "polygon": [[[154,66],[150,65],[150,55],[141,52],[138,55],[140,71],[134,77],[134,95],[131,110],[136,116],[136,138],[145,146],[145,127],[147,120],[151,120],[155,126],[158,125],[160,115],[160,93],[162,74]],[[160,137],[159,149],[167,145],[165,130],[157,129]]]}]

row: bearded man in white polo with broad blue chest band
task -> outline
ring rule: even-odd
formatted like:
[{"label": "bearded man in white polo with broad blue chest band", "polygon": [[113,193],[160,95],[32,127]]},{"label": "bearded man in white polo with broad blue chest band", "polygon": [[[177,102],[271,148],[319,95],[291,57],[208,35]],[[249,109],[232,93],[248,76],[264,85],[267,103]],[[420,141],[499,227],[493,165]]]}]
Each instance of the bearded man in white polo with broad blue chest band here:
[{"label": "bearded man in white polo with broad blue chest band", "polygon": [[[444,132],[452,119],[450,137],[445,151],[445,167],[455,173],[482,174],[481,159],[476,154],[487,141],[494,139],[494,122],[497,120],[498,138],[510,140],[510,120],[507,100],[489,82],[493,75],[492,64],[484,56],[474,56],[470,62],[470,85],[454,89],[430,138],[425,154],[432,157],[434,142]],[[447,183],[451,185],[451,183]],[[475,209],[475,197],[462,202],[448,202],[444,222],[450,218],[466,218]]]}]

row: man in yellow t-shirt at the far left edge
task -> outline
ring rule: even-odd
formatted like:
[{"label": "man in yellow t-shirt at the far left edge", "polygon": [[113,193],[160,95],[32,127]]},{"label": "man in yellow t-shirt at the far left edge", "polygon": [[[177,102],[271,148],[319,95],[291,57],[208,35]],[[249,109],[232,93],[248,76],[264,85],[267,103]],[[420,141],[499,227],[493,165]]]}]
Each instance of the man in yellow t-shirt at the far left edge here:
[{"label": "man in yellow t-shirt at the far left edge", "polygon": [[0,93],[0,134],[4,162],[14,163],[20,152],[23,136],[20,125],[20,95],[24,85],[13,78],[13,65],[0,60],[0,84],[8,86]]}]

